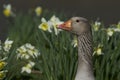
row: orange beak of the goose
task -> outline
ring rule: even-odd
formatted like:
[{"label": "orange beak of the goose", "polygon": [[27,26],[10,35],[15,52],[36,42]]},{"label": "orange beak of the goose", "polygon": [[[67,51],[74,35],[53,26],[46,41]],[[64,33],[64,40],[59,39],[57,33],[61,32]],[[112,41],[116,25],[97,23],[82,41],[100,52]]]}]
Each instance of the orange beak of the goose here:
[{"label": "orange beak of the goose", "polygon": [[58,25],[57,28],[70,31],[72,29],[71,22],[72,22],[71,20],[68,20],[68,21],[64,22],[63,24]]}]

